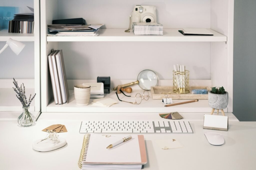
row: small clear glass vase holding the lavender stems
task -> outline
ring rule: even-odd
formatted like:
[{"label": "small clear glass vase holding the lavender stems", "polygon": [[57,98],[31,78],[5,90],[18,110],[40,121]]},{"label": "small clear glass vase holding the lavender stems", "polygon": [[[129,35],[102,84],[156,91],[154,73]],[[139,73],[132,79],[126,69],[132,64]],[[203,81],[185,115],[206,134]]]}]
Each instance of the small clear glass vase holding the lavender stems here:
[{"label": "small clear glass vase holding the lavender stems", "polygon": [[35,121],[35,116],[29,112],[29,107],[22,107],[23,112],[18,117],[18,124],[20,126],[31,126]]}]

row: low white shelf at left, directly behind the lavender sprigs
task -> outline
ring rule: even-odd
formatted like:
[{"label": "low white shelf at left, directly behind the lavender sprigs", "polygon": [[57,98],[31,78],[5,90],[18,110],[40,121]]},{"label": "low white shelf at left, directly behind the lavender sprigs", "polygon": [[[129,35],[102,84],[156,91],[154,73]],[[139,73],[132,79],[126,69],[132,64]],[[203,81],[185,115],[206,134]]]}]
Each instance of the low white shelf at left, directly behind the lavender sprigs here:
[{"label": "low white shelf at left, directly behind the lavender sprigs", "polygon": [[[26,88],[27,97],[35,94],[35,89]],[[0,88],[0,111],[22,111],[22,104],[15,96],[13,88]],[[30,111],[35,111],[35,101],[31,102]]]}]

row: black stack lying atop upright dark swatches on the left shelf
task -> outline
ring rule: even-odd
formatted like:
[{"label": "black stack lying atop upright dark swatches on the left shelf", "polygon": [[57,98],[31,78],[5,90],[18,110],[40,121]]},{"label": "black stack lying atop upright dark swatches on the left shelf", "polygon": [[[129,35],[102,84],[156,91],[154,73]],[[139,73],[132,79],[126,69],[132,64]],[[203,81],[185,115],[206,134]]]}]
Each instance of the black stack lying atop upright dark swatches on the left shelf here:
[{"label": "black stack lying atop upright dark swatches on the left shelf", "polygon": [[9,21],[8,32],[10,33],[34,33],[34,14],[15,14],[14,19]]}]

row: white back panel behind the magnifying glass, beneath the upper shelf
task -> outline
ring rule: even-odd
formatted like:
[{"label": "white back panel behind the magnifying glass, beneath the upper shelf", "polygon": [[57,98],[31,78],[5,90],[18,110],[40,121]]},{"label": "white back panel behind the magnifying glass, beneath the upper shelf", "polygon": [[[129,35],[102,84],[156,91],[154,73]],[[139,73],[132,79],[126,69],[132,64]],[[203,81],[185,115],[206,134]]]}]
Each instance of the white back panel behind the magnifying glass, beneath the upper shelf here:
[{"label": "white back panel behind the magnifying glass, beneath the upper shelf", "polygon": [[183,64],[190,79],[210,79],[210,43],[205,42],[61,42],[67,79],[136,80],[144,69],[172,79],[173,64]]}]

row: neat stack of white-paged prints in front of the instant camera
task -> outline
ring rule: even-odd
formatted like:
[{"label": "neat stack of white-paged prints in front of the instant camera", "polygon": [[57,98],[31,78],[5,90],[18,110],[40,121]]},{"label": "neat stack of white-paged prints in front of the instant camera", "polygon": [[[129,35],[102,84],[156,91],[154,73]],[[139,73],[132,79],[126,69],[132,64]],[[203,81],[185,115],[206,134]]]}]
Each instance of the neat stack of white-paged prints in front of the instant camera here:
[{"label": "neat stack of white-paged prints in front of the instant camera", "polygon": [[157,22],[133,22],[134,35],[163,35],[163,25]]}]

